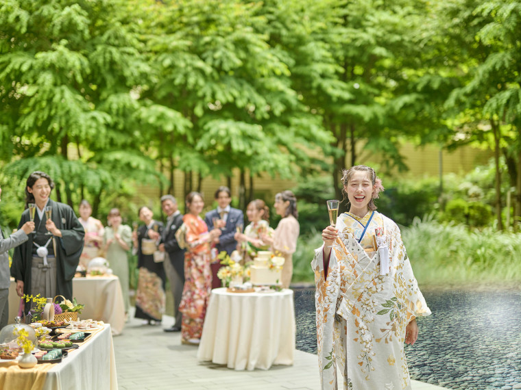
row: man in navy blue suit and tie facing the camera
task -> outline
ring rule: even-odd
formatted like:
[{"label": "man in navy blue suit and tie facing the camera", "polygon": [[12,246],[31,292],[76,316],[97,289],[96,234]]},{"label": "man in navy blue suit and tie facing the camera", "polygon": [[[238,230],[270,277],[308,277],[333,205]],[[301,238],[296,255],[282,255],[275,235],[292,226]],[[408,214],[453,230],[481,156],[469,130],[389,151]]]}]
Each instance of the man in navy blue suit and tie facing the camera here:
[{"label": "man in navy blue suit and tie facing the camera", "polygon": [[[217,209],[208,211],[204,216],[204,222],[208,225],[208,231],[211,231],[213,226],[213,220],[219,218],[223,221],[223,227],[221,227],[222,233],[215,239],[215,247],[220,253],[226,251],[230,255],[237,248],[237,241],[234,239],[235,233],[237,233],[237,226],[244,226],[244,215],[239,209],[230,207],[232,202],[232,193],[230,188],[221,186],[215,191],[215,200],[217,200]],[[215,263],[211,265],[212,268],[212,288],[221,287],[221,281],[217,278],[217,271],[221,268],[221,264]]]}]

